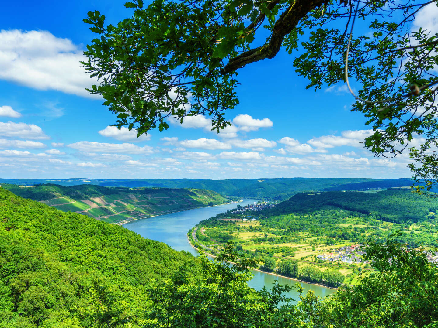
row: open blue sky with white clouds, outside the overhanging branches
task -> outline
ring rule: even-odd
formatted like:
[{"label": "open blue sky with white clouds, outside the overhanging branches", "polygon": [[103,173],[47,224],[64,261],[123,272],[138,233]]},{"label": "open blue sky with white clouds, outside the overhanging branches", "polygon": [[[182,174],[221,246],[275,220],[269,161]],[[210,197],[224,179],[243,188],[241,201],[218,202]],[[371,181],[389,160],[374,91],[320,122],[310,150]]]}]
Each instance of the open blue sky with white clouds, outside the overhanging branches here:
[{"label": "open blue sky with white clouds, outside the overhanging branches", "polygon": [[[19,10],[13,1],[2,4],[0,178],[411,176],[406,155],[375,158],[363,148],[371,130],[363,115],[350,112],[346,85],[306,90],[284,51],[239,70],[240,104],[226,114],[233,126],[219,134],[204,116],[140,138],[112,127],[116,116],[85,90],[92,80],[79,61],[95,36],[82,19],[99,10],[116,24],[131,16],[123,3],[22,1]],[[436,17],[427,10],[417,19],[433,30]]]}]

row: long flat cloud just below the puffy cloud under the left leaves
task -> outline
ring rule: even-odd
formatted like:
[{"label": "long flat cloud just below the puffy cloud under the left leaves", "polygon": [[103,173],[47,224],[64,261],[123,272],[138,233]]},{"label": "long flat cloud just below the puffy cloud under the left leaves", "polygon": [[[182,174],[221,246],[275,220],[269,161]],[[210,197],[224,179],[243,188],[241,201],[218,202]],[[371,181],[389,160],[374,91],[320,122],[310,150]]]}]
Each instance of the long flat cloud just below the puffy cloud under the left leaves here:
[{"label": "long flat cloud just below the puffy cloud under the left leaves", "polygon": [[67,147],[83,151],[97,153],[122,153],[122,154],[152,154],[150,146],[139,147],[133,143],[98,143],[96,141],[78,141]]}]

